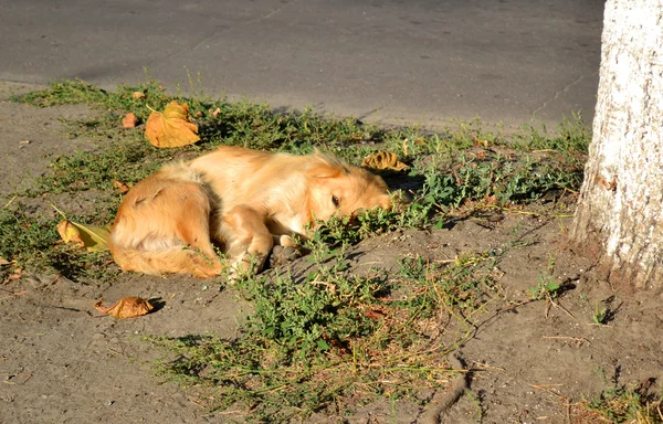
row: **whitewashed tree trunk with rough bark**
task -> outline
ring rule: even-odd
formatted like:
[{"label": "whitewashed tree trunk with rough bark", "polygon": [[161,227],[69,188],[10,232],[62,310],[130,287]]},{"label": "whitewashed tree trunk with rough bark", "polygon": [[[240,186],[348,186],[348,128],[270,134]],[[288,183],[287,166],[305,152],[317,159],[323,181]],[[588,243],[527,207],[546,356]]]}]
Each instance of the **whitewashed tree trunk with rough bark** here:
[{"label": "whitewashed tree trunk with rough bark", "polygon": [[662,126],[663,2],[608,0],[593,138],[571,241],[620,286],[663,288]]}]

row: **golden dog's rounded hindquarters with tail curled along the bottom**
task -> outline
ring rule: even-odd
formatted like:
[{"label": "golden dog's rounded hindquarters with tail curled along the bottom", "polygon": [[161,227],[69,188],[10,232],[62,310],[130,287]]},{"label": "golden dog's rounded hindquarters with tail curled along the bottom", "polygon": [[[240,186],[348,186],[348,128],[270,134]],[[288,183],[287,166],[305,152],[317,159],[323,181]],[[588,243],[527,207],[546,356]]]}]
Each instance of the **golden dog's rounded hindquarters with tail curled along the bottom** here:
[{"label": "golden dog's rounded hindquarters with tail curled along the bottom", "polygon": [[115,262],[125,271],[146,274],[220,274],[210,241],[210,199],[190,181],[144,180],[120,205],[110,234]]}]

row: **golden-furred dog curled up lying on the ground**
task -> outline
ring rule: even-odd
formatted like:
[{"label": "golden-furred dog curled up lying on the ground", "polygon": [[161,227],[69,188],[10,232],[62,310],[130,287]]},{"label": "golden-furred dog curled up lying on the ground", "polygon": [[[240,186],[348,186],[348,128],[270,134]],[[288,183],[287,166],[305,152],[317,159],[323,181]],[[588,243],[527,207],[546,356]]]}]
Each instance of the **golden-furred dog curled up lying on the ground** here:
[{"label": "golden-furred dog curled up lying on the ground", "polygon": [[[224,146],[168,165],[123,200],[108,245],[125,271],[231,278],[262,269],[275,244],[296,246],[318,222],[391,209],[385,181],[316,152],[273,153]],[[228,256],[223,263],[214,251]]]}]

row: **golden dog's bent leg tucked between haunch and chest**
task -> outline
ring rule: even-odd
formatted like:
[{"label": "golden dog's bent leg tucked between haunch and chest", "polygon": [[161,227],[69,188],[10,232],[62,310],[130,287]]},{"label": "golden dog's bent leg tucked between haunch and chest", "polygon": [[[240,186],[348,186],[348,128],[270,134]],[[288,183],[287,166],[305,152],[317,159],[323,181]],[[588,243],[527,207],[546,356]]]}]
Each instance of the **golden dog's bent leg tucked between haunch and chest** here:
[{"label": "golden dog's bent leg tucked between haunch and chest", "polygon": [[220,231],[231,262],[231,278],[236,273],[262,269],[274,244],[264,214],[249,205],[234,206],[223,213]]}]

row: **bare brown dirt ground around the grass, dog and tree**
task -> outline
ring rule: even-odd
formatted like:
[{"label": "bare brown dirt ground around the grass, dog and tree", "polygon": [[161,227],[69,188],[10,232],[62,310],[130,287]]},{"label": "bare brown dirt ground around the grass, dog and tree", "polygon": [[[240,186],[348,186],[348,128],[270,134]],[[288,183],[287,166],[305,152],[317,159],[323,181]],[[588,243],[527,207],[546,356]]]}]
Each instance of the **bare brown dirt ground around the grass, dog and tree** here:
[{"label": "bare brown dirt ground around the grass, dog and tree", "polygon": [[[32,87],[0,85],[9,92]],[[48,172],[51,155],[87,148],[62,135],[57,118],[91,114],[82,106],[33,107],[0,102],[0,201]],[[29,141],[29,142],[27,142]],[[31,176],[31,177],[30,177]],[[48,201],[48,199],[43,199]],[[75,208],[75,205],[72,205]],[[465,220],[439,231],[402,231],[356,246],[354,266],[396,266],[407,255],[431,261],[498,247],[514,237],[525,247],[499,262],[501,297],[480,315],[460,352],[472,370],[470,391],[444,423],[592,423],[578,402],[619,384],[663,378],[661,297],[613,290],[597,280],[591,264],[565,248],[570,218],[505,214],[491,226]],[[555,304],[524,301],[528,288],[555,258],[555,276],[570,289]],[[113,266],[113,265],[110,265]],[[161,352],[141,336],[236,333],[249,305],[221,282],[123,274],[115,282],[80,284],[57,275],[28,275],[0,288],[1,423],[225,423],[232,412],[209,414],[196,388],[160,384],[150,361]],[[93,303],[125,296],[160,298],[165,306],[140,319],[93,318]],[[594,303],[612,310],[607,326],[592,324]],[[349,423],[415,423],[414,404],[378,402],[360,407]],[[306,422],[335,423],[315,415]]]}]

